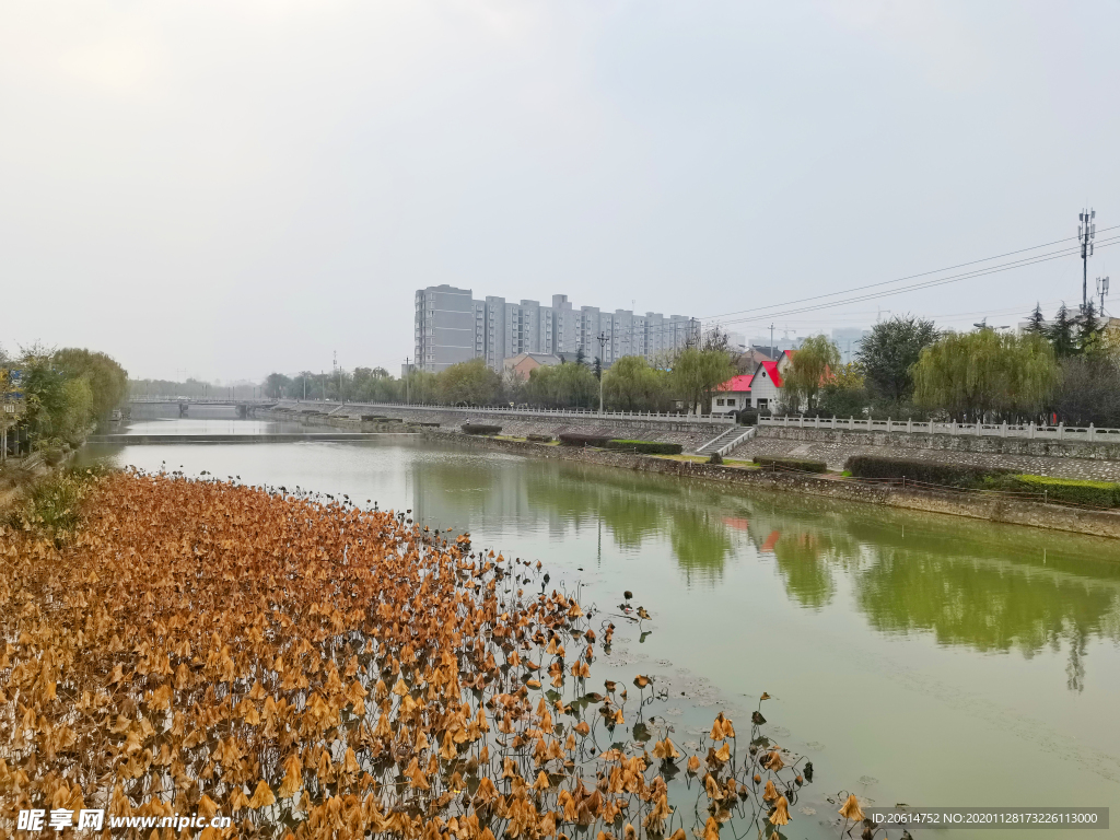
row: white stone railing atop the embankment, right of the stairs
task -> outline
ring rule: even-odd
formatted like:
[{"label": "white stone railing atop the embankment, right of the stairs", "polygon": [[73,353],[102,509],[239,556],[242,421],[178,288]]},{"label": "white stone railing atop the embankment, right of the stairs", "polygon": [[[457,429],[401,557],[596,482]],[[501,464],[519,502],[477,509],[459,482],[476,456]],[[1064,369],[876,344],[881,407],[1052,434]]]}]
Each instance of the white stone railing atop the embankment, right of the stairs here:
[{"label": "white stone railing atop the embankment, right of the stairs", "polygon": [[908,435],[955,435],[979,438],[1025,438],[1028,440],[1081,440],[1093,444],[1120,444],[1120,429],[1039,426],[1038,423],[940,423],[918,420],[865,420],[842,417],[759,417],[759,426],[787,429],[851,429],[852,431],[892,431]]}]

